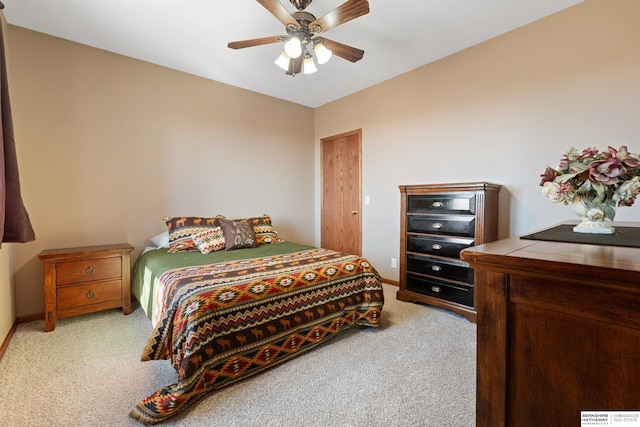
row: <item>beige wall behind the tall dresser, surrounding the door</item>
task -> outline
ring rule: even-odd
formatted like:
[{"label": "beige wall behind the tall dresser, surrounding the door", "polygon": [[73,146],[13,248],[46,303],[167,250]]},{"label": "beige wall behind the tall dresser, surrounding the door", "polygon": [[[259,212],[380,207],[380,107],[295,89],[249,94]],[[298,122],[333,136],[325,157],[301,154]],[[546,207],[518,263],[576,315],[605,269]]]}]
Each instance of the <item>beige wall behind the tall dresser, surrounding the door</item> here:
[{"label": "beige wall behind the tall dresser, surrounding the door", "polygon": [[320,138],[363,130],[363,255],[383,277],[398,278],[398,185],[502,184],[501,237],[576,219],[540,174],[571,146],[640,151],[639,16],[637,0],[589,0],[316,109],[317,170]]}]

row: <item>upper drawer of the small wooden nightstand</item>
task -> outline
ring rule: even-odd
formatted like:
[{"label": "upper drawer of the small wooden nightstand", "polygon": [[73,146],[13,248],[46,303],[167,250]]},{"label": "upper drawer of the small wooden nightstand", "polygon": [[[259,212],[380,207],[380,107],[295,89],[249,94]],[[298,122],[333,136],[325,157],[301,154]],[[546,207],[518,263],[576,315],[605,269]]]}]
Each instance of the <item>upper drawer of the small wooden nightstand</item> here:
[{"label": "upper drawer of the small wooden nightstand", "polygon": [[56,266],[58,285],[116,279],[121,276],[122,258],[119,256],[59,262]]}]

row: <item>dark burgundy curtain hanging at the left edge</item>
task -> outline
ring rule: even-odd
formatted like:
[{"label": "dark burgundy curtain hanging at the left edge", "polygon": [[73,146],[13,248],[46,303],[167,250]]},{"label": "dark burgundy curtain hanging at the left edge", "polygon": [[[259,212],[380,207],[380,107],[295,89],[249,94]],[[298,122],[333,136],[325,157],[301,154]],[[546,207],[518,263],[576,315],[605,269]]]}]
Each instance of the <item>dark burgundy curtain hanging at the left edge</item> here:
[{"label": "dark burgundy curtain hanging at the left edge", "polygon": [[[1,3],[1,2],[0,2]],[[4,16],[2,24],[4,24]],[[13,119],[9,102],[9,83],[4,52],[4,25],[0,25],[0,236],[1,242],[30,242],[36,236],[20,194],[20,178]],[[2,243],[0,243],[1,247]]]}]

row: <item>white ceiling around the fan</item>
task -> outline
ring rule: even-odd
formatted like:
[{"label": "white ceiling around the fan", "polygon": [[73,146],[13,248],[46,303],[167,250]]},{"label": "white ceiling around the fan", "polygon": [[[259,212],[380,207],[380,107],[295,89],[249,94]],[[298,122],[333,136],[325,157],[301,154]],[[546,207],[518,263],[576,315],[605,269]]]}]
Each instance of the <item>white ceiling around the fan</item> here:
[{"label": "white ceiling around the fan", "polygon": [[[344,1],[314,0],[306,11],[319,18]],[[255,0],[3,2],[10,24],[315,108],[582,1],[369,0],[369,14],[323,33],[363,49],[364,58],[334,56],[295,77],[273,63],[280,43],[227,47],[285,34]]]}]

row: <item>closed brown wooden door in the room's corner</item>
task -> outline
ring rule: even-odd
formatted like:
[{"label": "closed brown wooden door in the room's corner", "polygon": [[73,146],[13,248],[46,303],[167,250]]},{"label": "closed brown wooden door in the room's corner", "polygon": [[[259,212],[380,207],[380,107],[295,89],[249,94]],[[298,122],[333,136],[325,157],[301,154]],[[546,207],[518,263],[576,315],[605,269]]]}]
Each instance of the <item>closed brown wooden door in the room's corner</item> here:
[{"label": "closed brown wooden door in the room's corner", "polygon": [[321,246],[362,256],[362,130],[321,140]]}]

